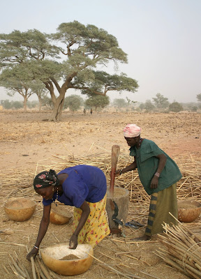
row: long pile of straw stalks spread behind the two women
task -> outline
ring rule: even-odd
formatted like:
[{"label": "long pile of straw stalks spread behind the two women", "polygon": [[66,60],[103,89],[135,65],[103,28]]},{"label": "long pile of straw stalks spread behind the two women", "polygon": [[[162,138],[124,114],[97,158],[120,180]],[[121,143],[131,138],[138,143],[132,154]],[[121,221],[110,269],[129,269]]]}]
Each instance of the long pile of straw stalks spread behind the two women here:
[{"label": "long pile of straw stalks spread behind the two women", "polygon": [[[120,153],[117,168],[124,168],[133,162],[133,157]],[[176,160],[177,165],[182,173],[182,178],[177,183],[177,197],[178,199],[195,199],[201,202],[201,170],[200,158],[183,158],[183,160]],[[44,170],[54,169],[59,172],[66,167],[75,165],[93,165],[99,167],[105,173],[107,185],[110,185],[110,171],[111,171],[111,153],[96,153],[88,156],[52,156],[46,160],[40,160],[36,165],[35,172],[30,169],[11,169],[10,174],[0,174],[1,193],[3,198],[10,197],[29,197],[34,195],[33,179],[38,172]],[[130,201],[135,202],[138,206],[149,205],[149,195],[144,191],[142,183],[140,182],[137,171],[126,172],[117,176],[115,179],[115,186],[127,188],[130,191]],[[34,195],[34,199],[38,201],[38,197]]]}]

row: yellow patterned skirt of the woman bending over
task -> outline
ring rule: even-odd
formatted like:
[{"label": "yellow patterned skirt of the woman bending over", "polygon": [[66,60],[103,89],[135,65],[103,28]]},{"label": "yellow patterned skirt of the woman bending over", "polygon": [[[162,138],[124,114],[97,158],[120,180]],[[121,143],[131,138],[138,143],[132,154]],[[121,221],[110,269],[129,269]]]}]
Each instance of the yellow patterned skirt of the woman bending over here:
[{"label": "yellow patterned skirt of the woman bending over", "polygon": [[[78,243],[88,243],[92,247],[96,246],[105,236],[110,234],[110,228],[107,220],[106,195],[100,202],[87,202],[90,207],[89,217],[78,235]],[[74,208],[73,232],[80,221],[82,210]]]}]

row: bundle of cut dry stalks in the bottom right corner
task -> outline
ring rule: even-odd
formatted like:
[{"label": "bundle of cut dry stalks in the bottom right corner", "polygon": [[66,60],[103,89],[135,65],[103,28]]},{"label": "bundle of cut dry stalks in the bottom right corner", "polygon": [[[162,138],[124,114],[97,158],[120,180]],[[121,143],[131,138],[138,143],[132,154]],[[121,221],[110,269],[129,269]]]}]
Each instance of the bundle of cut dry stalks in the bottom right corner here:
[{"label": "bundle of cut dry stalks in the bottom right corner", "polygon": [[156,254],[167,264],[190,278],[201,278],[201,237],[193,234],[184,225],[170,227],[163,225],[165,234],[158,235],[165,246],[159,248]]}]

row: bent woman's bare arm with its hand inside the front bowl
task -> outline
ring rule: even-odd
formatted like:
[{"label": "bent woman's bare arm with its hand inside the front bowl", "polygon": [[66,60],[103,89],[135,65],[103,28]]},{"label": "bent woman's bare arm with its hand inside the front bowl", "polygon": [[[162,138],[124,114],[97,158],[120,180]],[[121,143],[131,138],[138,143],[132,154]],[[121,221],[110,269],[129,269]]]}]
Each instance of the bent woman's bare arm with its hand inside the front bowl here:
[{"label": "bent woman's bare arm with its hand inside the front bowl", "polygon": [[75,229],[75,232],[70,237],[70,242],[69,242],[70,249],[75,249],[77,247],[77,236],[80,234],[80,231],[81,231],[82,227],[84,226],[84,224],[86,223],[87,218],[90,213],[89,204],[87,204],[86,201],[83,202],[83,204],[80,206],[80,209],[82,210],[82,215],[81,215],[80,221]]}]

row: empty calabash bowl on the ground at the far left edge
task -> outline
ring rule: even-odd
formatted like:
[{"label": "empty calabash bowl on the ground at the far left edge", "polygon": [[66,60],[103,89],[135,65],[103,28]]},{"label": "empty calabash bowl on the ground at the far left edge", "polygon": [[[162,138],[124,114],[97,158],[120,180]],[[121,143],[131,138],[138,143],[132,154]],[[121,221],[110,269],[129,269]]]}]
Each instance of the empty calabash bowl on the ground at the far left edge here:
[{"label": "empty calabash bowl on the ground at the far left edge", "polygon": [[23,222],[34,214],[36,202],[31,199],[14,199],[6,202],[3,209],[10,220]]}]

